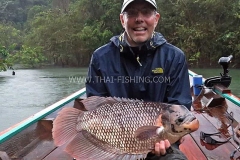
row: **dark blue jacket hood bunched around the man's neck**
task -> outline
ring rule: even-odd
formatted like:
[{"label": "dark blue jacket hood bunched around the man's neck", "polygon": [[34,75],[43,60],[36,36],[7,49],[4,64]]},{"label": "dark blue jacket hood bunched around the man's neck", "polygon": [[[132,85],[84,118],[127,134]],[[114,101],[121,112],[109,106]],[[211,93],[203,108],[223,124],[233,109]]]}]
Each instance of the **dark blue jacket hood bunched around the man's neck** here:
[{"label": "dark blue jacket hood bunched around the man's neck", "polygon": [[[118,48],[120,48],[120,52],[124,52],[126,48],[129,48],[129,45],[124,40],[124,34],[125,32],[123,32],[120,36],[114,36],[110,39]],[[166,39],[161,33],[154,32],[152,38],[144,45],[146,46],[147,50],[155,50],[157,47],[166,42]]]}]

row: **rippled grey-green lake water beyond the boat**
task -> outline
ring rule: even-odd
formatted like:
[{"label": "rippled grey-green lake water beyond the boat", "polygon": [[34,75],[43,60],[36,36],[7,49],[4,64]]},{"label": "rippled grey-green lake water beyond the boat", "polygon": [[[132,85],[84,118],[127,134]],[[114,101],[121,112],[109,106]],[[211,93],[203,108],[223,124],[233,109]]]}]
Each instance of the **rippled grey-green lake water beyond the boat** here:
[{"label": "rippled grey-green lake water beyond the boat", "polygon": [[[204,77],[222,72],[193,71]],[[0,72],[0,132],[83,88],[87,68],[21,69],[15,73]],[[240,97],[240,70],[230,70],[230,75],[230,88]]]}]

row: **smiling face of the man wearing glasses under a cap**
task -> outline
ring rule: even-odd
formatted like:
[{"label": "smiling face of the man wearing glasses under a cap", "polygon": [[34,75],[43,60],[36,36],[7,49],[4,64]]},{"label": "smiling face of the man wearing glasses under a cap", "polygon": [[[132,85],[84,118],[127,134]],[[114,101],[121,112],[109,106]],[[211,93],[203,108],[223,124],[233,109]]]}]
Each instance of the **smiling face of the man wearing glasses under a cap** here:
[{"label": "smiling face of the man wearing glasses under a cap", "polygon": [[134,1],[120,14],[120,20],[131,46],[139,46],[152,37],[160,14],[146,1]]}]

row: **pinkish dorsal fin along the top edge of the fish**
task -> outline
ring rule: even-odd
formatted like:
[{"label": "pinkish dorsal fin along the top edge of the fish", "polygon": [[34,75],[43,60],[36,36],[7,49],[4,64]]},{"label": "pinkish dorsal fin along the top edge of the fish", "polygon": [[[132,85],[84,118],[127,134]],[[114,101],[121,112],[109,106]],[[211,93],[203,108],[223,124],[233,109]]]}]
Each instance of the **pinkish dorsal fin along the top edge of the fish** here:
[{"label": "pinkish dorsal fin along the top edge of the fish", "polygon": [[103,104],[111,104],[116,102],[142,102],[142,101],[137,99],[118,98],[118,97],[91,96],[78,103],[81,103],[80,106],[84,106],[86,110],[92,111]]}]

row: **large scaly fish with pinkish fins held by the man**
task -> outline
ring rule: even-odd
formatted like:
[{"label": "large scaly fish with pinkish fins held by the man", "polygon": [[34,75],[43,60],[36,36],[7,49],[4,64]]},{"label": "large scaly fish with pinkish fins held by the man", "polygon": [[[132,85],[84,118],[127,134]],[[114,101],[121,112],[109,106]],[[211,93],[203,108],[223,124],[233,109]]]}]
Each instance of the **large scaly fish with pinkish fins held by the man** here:
[{"label": "large scaly fish with pinkish fins held by the man", "polygon": [[111,97],[89,97],[81,110],[64,108],[53,122],[57,146],[79,160],[143,159],[154,144],[174,143],[198,129],[183,105]]}]

